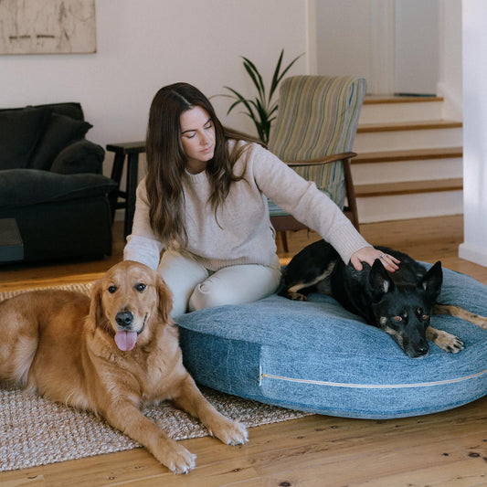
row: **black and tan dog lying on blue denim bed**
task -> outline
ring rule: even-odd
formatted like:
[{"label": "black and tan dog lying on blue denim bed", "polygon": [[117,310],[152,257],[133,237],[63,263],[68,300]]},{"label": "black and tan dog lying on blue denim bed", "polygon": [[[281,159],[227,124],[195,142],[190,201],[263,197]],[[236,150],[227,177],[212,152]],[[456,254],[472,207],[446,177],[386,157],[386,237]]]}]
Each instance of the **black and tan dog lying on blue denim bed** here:
[{"label": "black and tan dog lying on blue denim bed", "polygon": [[487,330],[487,318],[437,303],[443,281],[441,262],[426,270],[407,254],[376,249],[399,259],[399,269],[387,272],[376,259],[372,267],[364,263],[358,271],[352,264],[345,265],[324,240],[314,242],[291,259],[282,274],[280,294],[301,301],[312,291],[329,294],[346,310],[392,336],[411,358],[428,355],[428,340],[452,354],[463,349],[457,336],[429,326],[432,313],[457,316]]}]

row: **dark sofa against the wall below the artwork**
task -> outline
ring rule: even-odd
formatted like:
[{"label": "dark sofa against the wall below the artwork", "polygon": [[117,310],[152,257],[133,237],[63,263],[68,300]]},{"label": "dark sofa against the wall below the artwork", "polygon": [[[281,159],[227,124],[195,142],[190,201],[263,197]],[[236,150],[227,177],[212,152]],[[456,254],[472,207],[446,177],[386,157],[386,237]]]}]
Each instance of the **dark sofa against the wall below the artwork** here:
[{"label": "dark sofa against the wall below the artwork", "polygon": [[26,261],[111,254],[105,152],[79,103],[0,110],[0,218],[15,218]]}]

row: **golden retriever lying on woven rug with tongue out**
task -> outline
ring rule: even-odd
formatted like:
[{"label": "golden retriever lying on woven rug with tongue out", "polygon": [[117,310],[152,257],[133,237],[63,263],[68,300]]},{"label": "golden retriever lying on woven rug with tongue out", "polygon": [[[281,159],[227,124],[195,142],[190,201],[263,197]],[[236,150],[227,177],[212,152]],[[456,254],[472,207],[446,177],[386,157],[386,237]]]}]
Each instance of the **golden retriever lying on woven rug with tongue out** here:
[{"label": "golden retriever lying on woven rug with tongue out", "polygon": [[228,445],[247,430],[217,412],[182,362],[170,291],[147,266],[122,261],[79,292],[29,291],[0,303],[0,379],[106,418],[175,473],[196,455],[141,409],[171,400]]}]

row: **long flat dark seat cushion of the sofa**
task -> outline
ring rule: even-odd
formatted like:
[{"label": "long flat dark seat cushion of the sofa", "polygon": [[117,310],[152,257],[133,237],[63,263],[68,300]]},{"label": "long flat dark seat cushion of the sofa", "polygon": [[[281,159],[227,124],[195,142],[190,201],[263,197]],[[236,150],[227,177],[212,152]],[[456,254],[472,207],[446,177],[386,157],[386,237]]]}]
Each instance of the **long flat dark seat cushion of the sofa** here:
[{"label": "long flat dark seat cushion of the sofa", "polygon": [[9,169],[0,171],[0,207],[106,195],[116,187],[104,175],[58,175],[37,169]]}]

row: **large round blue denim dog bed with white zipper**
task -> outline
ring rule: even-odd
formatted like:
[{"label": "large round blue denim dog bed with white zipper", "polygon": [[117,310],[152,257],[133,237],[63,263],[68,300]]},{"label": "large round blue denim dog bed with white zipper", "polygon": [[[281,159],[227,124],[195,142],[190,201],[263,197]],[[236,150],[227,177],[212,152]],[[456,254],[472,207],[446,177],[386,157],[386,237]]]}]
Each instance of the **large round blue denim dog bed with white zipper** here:
[{"label": "large round blue denim dog bed with white zipper", "polygon": [[[443,270],[439,302],[487,315],[487,286]],[[272,295],[178,317],[185,365],[196,382],[257,401],[347,418],[402,418],[456,408],[487,394],[487,332],[451,316],[435,328],[465,349],[430,344],[408,358],[386,333],[319,294]]]}]

